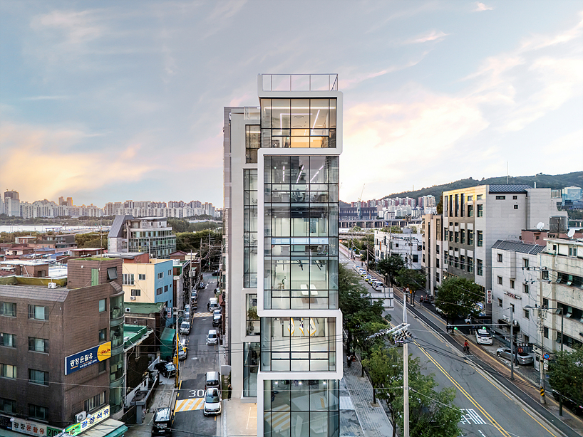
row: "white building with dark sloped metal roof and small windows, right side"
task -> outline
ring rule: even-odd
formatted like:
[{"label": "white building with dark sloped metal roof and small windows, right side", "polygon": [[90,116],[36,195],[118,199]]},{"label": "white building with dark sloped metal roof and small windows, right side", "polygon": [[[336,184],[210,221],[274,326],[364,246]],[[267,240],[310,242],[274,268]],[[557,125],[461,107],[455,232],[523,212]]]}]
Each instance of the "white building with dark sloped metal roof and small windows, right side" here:
[{"label": "white building with dark sloped metal roof and small windows, right side", "polygon": [[510,322],[517,343],[535,343],[537,317],[530,308],[538,298],[539,253],[545,246],[498,240],[492,246],[492,323],[510,338]]}]

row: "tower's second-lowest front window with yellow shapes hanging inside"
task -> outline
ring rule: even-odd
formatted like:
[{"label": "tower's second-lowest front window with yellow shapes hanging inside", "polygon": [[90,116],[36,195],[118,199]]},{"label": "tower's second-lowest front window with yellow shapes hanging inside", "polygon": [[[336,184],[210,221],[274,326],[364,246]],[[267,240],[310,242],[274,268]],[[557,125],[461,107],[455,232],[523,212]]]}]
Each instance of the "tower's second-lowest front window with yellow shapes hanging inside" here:
[{"label": "tower's second-lowest front window with yellow shapes hanging inside", "polygon": [[262,317],[262,370],[336,370],[336,320],[324,317]]}]

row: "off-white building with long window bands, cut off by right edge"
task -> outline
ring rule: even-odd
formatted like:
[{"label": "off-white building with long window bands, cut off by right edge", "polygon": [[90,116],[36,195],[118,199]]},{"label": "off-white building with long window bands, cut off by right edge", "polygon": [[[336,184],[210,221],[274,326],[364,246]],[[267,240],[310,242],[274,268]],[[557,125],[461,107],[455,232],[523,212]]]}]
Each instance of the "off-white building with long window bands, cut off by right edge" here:
[{"label": "off-white building with long window bands, cut off by right edge", "polygon": [[[583,241],[545,238],[540,253],[539,307],[545,350],[583,346]],[[561,337],[561,330],[563,335]]]}]

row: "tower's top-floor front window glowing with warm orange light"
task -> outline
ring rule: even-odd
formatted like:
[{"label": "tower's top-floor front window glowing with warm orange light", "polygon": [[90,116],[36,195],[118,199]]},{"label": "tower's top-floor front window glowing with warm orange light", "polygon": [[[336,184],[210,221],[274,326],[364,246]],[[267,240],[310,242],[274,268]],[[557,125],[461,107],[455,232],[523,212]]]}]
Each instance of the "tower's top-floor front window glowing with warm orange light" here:
[{"label": "tower's top-floor front window glowing with warm orange light", "polygon": [[261,110],[262,147],[336,147],[336,99],[262,99]]}]

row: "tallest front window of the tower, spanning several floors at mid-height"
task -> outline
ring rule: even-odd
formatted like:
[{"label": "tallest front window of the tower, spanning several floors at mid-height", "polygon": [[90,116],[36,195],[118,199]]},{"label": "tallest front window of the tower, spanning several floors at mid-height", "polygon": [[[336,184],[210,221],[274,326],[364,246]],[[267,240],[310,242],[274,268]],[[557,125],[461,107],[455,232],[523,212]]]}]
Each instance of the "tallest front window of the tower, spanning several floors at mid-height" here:
[{"label": "tallest front window of the tower, spanning several floors at mid-height", "polygon": [[265,157],[267,309],[338,307],[338,157]]}]

